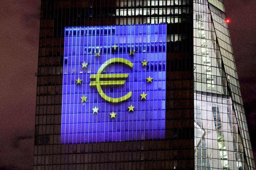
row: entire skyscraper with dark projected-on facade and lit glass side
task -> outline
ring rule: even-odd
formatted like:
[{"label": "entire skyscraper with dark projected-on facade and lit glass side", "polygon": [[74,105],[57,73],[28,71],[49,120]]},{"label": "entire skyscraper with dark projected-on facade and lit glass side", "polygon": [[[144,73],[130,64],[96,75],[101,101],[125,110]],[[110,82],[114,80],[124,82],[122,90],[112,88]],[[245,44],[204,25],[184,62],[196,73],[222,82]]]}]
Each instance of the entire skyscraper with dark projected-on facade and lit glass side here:
[{"label": "entire skyscraper with dark projected-on facade and lit glass side", "polygon": [[223,0],[42,0],[34,169],[255,169]]}]

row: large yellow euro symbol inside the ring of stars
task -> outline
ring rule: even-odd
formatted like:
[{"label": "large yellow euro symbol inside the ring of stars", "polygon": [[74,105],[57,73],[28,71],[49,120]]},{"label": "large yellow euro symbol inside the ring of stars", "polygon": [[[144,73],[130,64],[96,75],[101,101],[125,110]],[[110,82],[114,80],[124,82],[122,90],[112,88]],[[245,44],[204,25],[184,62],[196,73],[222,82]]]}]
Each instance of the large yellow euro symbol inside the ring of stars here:
[{"label": "large yellow euro symbol inside the ring of stars", "polygon": [[97,74],[92,74],[90,76],[90,79],[91,79],[90,86],[96,86],[100,96],[103,99],[105,99],[106,101],[109,101],[109,102],[112,102],[112,103],[118,103],[118,102],[129,99],[132,96],[132,91],[127,93],[125,96],[119,97],[119,98],[111,98],[111,97],[107,96],[102,91],[101,85],[105,85],[105,86],[124,85],[125,79],[129,75],[129,74],[101,74],[101,72],[105,69],[105,67],[107,67],[109,64],[112,64],[112,63],[123,63],[127,67],[129,66],[130,68],[132,68],[132,66],[133,66],[132,62],[130,62],[129,60],[126,60],[124,58],[111,58],[100,66]]}]

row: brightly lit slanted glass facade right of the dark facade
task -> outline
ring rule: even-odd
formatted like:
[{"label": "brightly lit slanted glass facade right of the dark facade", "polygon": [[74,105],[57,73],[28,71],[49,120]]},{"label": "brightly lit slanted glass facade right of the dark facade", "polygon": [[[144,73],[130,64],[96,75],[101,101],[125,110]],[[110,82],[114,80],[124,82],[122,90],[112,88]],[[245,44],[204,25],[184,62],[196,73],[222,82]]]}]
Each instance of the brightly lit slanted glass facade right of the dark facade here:
[{"label": "brightly lit slanted glass facade right of the dark facade", "polygon": [[196,169],[255,169],[221,0],[194,0]]}]

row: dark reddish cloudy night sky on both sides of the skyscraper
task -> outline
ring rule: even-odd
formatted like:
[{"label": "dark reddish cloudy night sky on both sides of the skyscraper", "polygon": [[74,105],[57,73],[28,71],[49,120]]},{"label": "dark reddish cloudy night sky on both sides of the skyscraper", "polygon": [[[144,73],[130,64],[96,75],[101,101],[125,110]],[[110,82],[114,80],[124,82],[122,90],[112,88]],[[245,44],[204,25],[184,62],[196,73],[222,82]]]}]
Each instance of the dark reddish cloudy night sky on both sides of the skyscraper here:
[{"label": "dark reddish cloudy night sky on both sides of the skyscraper", "polygon": [[[256,157],[256,1],[225,0],[244,107]],[[0,169],[31,169],[40,0],[0,1]]]}]

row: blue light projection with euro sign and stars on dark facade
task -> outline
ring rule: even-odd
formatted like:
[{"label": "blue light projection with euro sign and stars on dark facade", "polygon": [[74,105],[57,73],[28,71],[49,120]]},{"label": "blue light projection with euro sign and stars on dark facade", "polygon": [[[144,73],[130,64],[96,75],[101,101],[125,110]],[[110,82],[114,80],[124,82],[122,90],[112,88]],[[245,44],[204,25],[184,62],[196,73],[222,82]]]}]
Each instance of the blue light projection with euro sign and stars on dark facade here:
[{"label": "blue light projection with euro sign and stars on dark facade", "polygon": [[61,143],[164,139],[166,24],[66,27]]}]

